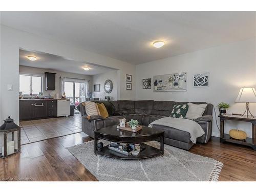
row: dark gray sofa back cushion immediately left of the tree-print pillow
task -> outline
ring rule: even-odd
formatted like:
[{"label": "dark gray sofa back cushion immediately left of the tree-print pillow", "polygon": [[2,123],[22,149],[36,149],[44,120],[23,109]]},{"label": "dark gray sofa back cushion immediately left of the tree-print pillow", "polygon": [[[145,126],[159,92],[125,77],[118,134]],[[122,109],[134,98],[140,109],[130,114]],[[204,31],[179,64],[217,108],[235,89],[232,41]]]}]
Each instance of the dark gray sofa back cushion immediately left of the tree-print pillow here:
[{"label": "dark gray sofa back cushion immediately left of the tree-print pillow", "polygon": [[174,101],[155,101],[151,114],[169,117],[174,105]]}]

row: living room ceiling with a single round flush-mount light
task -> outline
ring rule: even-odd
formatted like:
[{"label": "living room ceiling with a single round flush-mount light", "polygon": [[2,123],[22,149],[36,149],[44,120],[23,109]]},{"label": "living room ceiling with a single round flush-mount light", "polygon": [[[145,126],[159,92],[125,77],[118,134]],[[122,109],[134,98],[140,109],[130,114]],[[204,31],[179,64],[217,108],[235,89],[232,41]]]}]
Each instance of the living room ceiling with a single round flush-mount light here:
[{"label": "living room ceiling with a single round flush-mount light", "polygon": [[135,65],[256,34],[256,12],[7,11],[1,23]]}]

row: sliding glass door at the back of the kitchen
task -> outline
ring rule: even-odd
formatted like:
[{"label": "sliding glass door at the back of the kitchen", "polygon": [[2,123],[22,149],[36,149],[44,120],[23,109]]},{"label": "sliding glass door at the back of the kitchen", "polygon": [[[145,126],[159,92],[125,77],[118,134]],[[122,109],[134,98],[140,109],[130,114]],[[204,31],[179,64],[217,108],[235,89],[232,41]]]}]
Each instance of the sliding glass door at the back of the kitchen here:
[{"label": "sliding glass door at the back of the kitchen", "polygon": [[65,81],[65,93],[70,103],[77,106],[80,102],[86,100],[86,83]]}]

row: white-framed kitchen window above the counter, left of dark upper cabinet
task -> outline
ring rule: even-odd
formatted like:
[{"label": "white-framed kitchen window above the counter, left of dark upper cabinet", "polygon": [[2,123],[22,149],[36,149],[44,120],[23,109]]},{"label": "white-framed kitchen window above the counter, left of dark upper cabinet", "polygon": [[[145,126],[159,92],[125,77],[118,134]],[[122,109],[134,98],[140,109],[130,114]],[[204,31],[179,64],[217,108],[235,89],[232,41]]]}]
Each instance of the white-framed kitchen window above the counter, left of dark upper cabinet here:
[{"label": "white-framed kitchen window above the counter, left of dark upper cabinet", "polygon": [[19,75],[19,91],[23,95],[38,95],[42,92],[42,77],[36,75]]}]

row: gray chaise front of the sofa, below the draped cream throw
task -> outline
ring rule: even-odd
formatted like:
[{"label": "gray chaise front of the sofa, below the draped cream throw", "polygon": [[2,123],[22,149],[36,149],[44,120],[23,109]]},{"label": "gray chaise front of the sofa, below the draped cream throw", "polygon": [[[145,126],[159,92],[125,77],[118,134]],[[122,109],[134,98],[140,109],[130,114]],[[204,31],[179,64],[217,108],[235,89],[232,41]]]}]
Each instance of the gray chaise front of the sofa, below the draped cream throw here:
[{"label": "gray chaise front of the sofa, below the draped cream throw", "polygon": [[163,126],[163,125],[153,125],[154,129],[161,130],[164,132],[164,137],[169,139],[174,139],[186,143],[190,143],[190,134],[185,131],[177,130],[174,127]]}]

